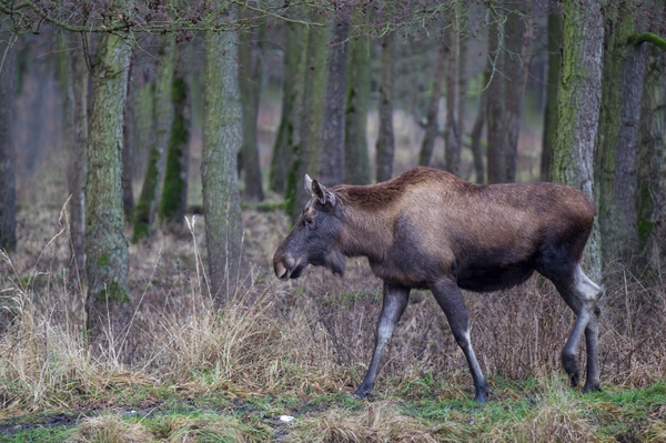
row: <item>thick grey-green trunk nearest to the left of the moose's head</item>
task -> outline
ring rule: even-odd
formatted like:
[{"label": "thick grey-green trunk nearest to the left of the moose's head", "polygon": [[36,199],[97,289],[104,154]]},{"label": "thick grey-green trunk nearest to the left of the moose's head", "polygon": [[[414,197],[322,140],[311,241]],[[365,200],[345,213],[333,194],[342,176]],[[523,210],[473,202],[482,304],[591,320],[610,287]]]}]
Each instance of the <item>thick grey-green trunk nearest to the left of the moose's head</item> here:
[{"label": "thick grey-green trunk nearest to the left of the moose's head", "polygon": [[[235,20],[235,7],[230,11]],[[209,284],[216,306],[243,292],[248,261],[236,157],[242,144],[238,32],[206,31],[201,180]]]}]

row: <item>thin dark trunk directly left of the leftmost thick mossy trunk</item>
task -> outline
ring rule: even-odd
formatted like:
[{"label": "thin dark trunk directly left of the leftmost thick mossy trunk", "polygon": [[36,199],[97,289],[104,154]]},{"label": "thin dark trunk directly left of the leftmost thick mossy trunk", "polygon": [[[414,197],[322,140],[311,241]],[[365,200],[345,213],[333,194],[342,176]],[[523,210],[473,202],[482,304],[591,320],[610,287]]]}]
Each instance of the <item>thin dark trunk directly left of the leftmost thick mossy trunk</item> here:
[{"label": "thin dark trunk directly left of the leftmost thick mossy trunk", "polygon": [[64,32],[59,34],[59,75],[62,90],[62,143],[68,153],[70,271],[71,279],[78,281],[85,268],[83,184],[88,169],[89,73],[83,51],[72,37]]}]

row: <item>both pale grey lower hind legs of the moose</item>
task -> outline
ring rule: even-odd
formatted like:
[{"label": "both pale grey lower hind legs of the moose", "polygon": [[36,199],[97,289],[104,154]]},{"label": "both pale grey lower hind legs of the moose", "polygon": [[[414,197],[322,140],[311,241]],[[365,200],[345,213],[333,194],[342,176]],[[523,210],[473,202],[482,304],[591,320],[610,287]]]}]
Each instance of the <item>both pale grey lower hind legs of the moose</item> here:
[{"label": "both pale grey lower hind legs of the moose", "polygon": [[601,310],[596,303],[603,290],[583,273],[581,265],[576,265],[574,269],[573,279],[567,280],[563,282],[553,279],[557,291],[577,316],[572,333],[562,351],[562,366],[568,374],[572,386],[577,386],[579,373],[576,351],[585,332],[587,346],[585,390],[589,391],[599,387],[597,318]]}]

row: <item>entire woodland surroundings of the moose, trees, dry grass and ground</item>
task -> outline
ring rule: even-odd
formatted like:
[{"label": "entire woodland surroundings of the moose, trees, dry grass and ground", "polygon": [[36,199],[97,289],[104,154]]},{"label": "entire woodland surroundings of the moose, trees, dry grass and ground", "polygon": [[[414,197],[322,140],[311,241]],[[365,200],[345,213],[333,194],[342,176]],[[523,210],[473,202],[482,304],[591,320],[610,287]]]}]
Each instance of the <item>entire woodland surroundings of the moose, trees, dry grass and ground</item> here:
[{"label": "entire woodland surroundings of the moose, trees, dry grass and ground", "polygon": [[[0,0],[0,442],[665,442],[664,0]],[[412,291],[273,254],[416,165],[594,202],[601,392],[535,274]],[[585,366],[585,340],[577,360]]]}]

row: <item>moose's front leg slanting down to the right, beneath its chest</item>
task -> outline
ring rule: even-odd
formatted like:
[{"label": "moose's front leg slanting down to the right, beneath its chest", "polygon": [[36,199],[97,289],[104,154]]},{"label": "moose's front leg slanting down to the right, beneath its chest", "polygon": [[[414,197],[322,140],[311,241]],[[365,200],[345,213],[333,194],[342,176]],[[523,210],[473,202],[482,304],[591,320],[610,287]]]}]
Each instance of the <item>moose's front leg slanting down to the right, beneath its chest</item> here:
[{"label": "moose's front leg slanting down to the right, beneath its chest", "polygon": [[456,343],[465,354],[465,359],[467,359],[470,372],[474,380],[474,401],[485,403],[488,400],[488,394],[492,394],[492,392],[481,372],[481,366],[472,348],[472,341],[470,340],[470,314],[467,313],[467,308],[465,308],[463,294],[457,284],[451,280],[440,281],[431,290],[446,315]]}]

